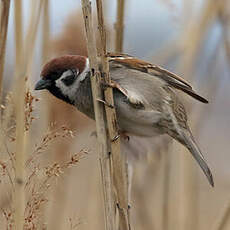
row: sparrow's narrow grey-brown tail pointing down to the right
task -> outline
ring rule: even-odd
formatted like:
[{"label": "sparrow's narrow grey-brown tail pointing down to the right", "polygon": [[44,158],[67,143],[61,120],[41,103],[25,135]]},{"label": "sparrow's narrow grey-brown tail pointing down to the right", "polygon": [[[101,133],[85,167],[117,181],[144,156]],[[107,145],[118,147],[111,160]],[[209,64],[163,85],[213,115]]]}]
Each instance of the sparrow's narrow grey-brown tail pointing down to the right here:
[{"label": "sparrow's narrow grey-brown tail pointing down to the right", "polygon": [[214,181],[212,177],[211,170],[209,169],[204,156],[202,155],[200,148],[196,144],[191,131],[189,128],[187,129],[180,129],[180,132],[178,133],[179,136],[177,139],[180,143],[182,143],[192,154],[192,156],[195,158],[197,163],[200,165],[201,169],[203,170],[204,174],[208,178],[209,183],[212,187],[214,187]]}]

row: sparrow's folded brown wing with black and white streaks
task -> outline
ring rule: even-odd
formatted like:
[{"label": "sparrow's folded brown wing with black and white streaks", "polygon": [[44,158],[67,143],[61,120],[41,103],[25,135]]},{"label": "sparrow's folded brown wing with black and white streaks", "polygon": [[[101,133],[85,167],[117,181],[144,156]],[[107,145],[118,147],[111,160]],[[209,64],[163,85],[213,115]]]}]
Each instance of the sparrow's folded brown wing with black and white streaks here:
[{"label": "sparrow's folded brown wing with black and white streaks", "polygon": [[144,73],[148,73],[151,76],[164,80],[168,85],[185,92],[186,94],[192,96],[198,101],[201,101],[203,103],[208,103],[208,101],[202,96],[198,95],[192,89],[192,86],[188,82],[186,82],[183,78],[177,76],[176,74],[162,67],[153,65],[151,63],[136,59],[132,56],[125,55],[125,54],[109,53],[108,57],[109,57],[109,61],[111,62],[124,65],[130,69],[135,69]]}]

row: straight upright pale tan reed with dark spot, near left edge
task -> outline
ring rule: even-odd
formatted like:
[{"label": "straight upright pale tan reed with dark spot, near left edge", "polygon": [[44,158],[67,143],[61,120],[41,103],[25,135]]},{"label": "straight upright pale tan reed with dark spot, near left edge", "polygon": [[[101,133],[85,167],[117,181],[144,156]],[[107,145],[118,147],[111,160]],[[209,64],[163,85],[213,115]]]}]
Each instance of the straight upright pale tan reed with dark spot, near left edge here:
[{"label": "straight upright pale tan reed with dark spot, near left edge", "polygon": [[[22,2],[15,1],[14,8],[14,29],[15,29],[15,71],[16,74],[20,73],[22,64]],[[22,80],[21,98],[18,98],[16,103],[16,159],[15,159],[15,194],[14,194],[14,229],[22,230],[24,226],[24,210],[25,210],[25,193],[24,193],[24,80]],[[18,86],[19,87],[19,86]],[[16,88],[16,86],[14,87]],[[17,90],[17,89],[16,89]],[[19,90],[17,90],[17,93]],[[18,95],[16,92],[15,94]],[[15,99],[16,99],[15,95]]]}]

